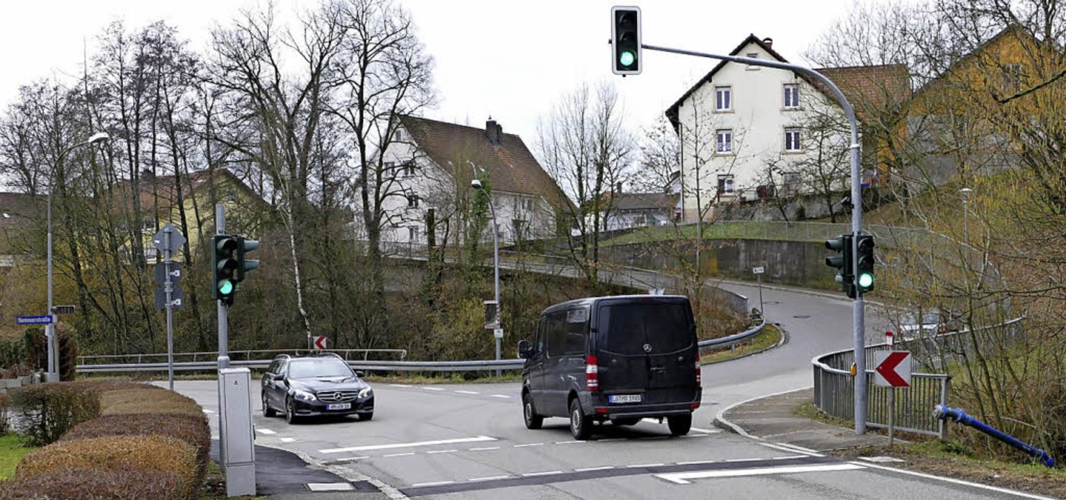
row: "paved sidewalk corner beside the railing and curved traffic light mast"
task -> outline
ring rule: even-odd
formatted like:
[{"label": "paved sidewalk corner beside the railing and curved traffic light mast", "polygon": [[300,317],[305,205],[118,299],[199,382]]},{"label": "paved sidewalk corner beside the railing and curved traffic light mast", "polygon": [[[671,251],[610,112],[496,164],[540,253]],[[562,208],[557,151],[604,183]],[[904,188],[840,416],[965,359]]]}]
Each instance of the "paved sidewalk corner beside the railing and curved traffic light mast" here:
[{"label": "paved sidewalk corner beside the railing and curved traffic light mast", "polygon": [[859,436],[854,430],[793,414],[796,406],[813,398],[814,389],[806,388],[744,401],[720,412],[714,424],[748,437],[819,452],[888,445],[887,436],[876,433]]}]

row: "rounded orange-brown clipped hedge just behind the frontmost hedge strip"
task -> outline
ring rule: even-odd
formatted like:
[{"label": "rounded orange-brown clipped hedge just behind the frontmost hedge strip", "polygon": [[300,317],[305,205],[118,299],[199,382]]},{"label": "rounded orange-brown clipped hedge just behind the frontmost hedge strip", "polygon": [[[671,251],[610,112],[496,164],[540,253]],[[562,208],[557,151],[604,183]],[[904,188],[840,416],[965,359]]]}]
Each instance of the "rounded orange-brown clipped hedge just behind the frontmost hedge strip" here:
[{"label": "rounded orange-brown clipped hedge just behind the frontmost hedge strip", "polygon": [[[196,448],[162,435],[108,436],[54,443],[26,455],[15,469],[15,480],[21,482],[43,473],[55,478],[60,469],[90,471],[91,474],[114,470],[173,473],[177,476],[178,483],[169,495],[179,499],[194,498],[200,485]],[[143,479],[136,482],[143,482]]]}]

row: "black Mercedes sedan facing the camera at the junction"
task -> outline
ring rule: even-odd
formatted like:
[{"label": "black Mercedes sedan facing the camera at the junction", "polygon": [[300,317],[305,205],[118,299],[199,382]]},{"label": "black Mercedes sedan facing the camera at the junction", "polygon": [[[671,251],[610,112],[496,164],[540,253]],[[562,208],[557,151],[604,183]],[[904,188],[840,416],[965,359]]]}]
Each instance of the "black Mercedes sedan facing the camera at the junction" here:
[{"label": "black Mercedes sedan facing the camera at the junction", "polygon": [[374,418],[374,389],[337,354],[281,354],[262,380],[263,416],[285,414],[289,423],[303,417],[358,415]]}]

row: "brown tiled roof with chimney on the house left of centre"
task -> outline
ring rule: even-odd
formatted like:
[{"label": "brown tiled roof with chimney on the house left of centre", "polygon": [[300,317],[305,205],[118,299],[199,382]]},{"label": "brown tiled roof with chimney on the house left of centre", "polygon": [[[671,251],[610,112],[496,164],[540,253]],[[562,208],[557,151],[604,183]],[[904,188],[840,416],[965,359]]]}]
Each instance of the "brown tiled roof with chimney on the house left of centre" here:
[{"label": "brown tiled roof with chimney on the house left of centre", "polygon": [[[549,203],[564,207],[569,203],[559,184],[540,167],[521,137],[500,133],[492,144],[483,128],[466,127],[414,116],[401,116],[400,122],[413,141],[434,163],[455,177],[456,168],[466,169],[473,162],[488,169],[494,189],[543,196]],[[495,123],[495,122],[494,122]],[[470,173],[464,173],[467,176]]]}]

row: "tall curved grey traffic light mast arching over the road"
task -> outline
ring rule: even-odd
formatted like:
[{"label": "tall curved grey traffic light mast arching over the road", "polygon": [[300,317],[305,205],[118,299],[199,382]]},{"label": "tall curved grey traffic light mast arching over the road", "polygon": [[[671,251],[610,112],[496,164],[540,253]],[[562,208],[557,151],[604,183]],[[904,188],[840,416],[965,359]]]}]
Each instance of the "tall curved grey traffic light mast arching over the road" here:
[{"label": "tall curved grey traffic light mast arching over the road", "polygon": [[[667,47],[658,47],[651,45],[641,45],[642,48],[647,50],[655,50],[659,52],[669,52],[674,54],[681,55],[694,55],[696,57],[708,57],[718,61],[729,61],[732,63],[747,64],[752,66],[763,66],[768,68],[787,69],[790,71],[795,71],[797,73],[806,74],[819,83],[824,84],[833,93],[834,97],[840,103],[840,106],[844,110],[844,115],[847,116],[847,122],[851,126],[852,132],[852,144],[851,144],[851,163],[852,163],[852,255],[857,255],[858,251],[856,244],[859,239],[859,234],[862,231],[862,191],[861,183],[862,179],[859,172],[859,130],[858,121],[855,119],[855,111],[852,109],[852,104],[847,102],[847,98],[844,94],[837,88],[829,79],[822,76],[813,69],[806,68],[803,66],[796,66],[794,64],[781,63],[778,61],[766,61],[761,59],[752,57],[739,57],[736,55],[720,55],[711,54],[706,52],[694,52],[691,50],[681,49],[671,49]],[[852,260],[852,274],[858,276],[858,259]],[[857,288],[857,284],[856,284]],[[855,348],[855,433],[865,434],[866,433],[866,420],[867,420],[867,381],[866,381],[866,324],[863,317],[863,303],[862,294],[856,289],[855,300],[852,302],[852,324],[853,324],[853,335],[854,335],[854,348]]]}]

